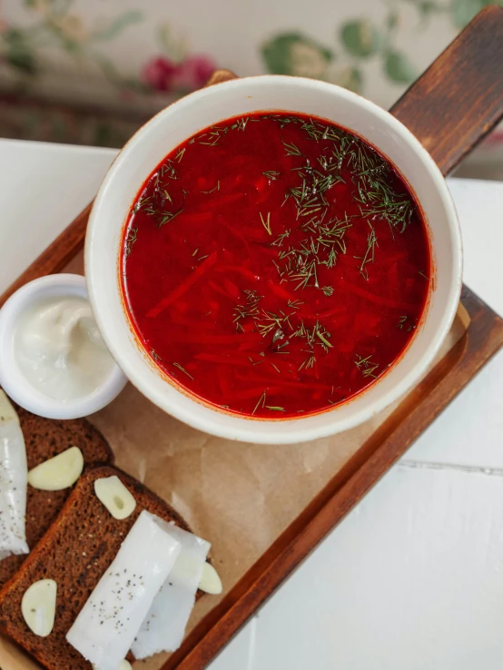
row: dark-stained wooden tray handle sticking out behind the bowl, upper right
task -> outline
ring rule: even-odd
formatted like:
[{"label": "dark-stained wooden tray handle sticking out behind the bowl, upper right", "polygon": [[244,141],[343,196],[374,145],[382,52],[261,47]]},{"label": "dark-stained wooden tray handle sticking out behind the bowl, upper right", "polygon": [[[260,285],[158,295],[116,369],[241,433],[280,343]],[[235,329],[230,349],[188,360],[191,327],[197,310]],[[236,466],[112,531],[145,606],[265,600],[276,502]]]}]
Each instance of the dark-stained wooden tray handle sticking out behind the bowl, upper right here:
[{"label": "dark-stained wooden tray handle sticking out behind the bowl, upper right", "polygon": [[503,8],[483,9],[390,112],[444,174],[503,116]]}]

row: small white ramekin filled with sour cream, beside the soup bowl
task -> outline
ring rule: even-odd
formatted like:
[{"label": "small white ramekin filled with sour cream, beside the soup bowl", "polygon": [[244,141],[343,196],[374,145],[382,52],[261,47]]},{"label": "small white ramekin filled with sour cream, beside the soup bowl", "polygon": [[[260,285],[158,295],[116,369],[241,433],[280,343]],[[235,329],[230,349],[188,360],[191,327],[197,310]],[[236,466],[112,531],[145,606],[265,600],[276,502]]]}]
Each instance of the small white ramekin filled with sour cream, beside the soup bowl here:
[{"label": "small white ramekin filled with sour cream, beside the soup bowl", "polygon": [[107,350],[84,277],[31,281],[0,310],[0,385],[19,405],[50,419],[104,408],[126,379]]}]

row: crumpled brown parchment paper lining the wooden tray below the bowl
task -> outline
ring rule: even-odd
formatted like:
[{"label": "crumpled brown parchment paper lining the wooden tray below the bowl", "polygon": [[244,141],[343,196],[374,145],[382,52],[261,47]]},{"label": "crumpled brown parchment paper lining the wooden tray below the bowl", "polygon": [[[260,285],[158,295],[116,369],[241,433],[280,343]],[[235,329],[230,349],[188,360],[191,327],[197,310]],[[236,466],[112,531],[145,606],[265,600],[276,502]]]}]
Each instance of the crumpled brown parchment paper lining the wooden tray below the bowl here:
[{"label": "crumpled brown parchment paper lining the wooden tray below the bowl", "polygon": [[[76,259],[65,271],[81,272]],[[444,342],[443,357],[468,327],[463,308]],[[301,514],[340,468],[399,405],[356,429],[300,445],[243,444],[212,438],[165,414],[128,384],[119,398],[90,417],[108,439],[119,468],[172,505],[193,531],[212,543],[222,596],[194,608],[191,630]],[[168,655],[135,664],[159,670]],[[35,670],[27,655],[0,639],[1,670]]]}]

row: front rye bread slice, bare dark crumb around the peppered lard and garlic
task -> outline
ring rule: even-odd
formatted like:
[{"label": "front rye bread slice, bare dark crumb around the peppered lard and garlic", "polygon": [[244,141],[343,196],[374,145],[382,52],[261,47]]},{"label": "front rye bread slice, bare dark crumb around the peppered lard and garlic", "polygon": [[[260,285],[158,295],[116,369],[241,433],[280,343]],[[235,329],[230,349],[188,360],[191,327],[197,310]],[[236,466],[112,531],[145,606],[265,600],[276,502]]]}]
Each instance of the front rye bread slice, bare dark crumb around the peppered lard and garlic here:
[{"label": "front rye bread slice, bare dark crumb around the peppered lard and garlic", "polygon": [[[136,500],[133,514],[122,521],[114,519],[94,494],[95,479],[112,475]],[[0,630],[48,670],[92,670],[65,636],[143,509],[189,530],[167,503],[121,470],[105,466],[84,473],[59,517],[0,591]],[[57,583],[54,628],[47,637],[35,636],[21,614],[25,590],[39,579]]]}]

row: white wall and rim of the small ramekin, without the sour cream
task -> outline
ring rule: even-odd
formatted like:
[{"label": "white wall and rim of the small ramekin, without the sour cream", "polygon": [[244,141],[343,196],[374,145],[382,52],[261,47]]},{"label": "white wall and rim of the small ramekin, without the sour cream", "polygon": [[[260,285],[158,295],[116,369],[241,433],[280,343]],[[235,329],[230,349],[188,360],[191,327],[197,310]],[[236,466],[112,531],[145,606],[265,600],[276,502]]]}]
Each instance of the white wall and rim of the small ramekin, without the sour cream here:
[{"label": "white wall and rim of the small ramekin, without the sour cream", "polygon": [[48,419],[78,419],[103,409],[123,390],[127,379],[117,364],[102,386],[83,398],[55,400],[35,389],[15,362],[14,334],[17,320],[31,305],[44,298],[78,296],[87,300],[84,277],[51,274],[15,291],[0,310],[0,386],[18,405]]}]

